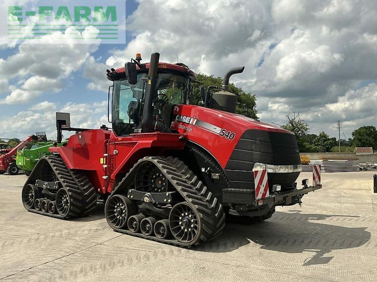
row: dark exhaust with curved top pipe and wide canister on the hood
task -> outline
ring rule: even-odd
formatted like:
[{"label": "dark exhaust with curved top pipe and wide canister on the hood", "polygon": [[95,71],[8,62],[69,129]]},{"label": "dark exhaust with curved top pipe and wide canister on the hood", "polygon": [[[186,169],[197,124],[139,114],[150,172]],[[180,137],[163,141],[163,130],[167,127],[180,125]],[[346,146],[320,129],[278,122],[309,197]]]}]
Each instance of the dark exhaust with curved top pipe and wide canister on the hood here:
[{"label": "dark exhaust with curved top pipe and wide canister on the hood", "polygon": [[225,112],[236,111],[237,96],[228,91],[229,79],[233,74],[242,73],[245,67],[231,68],[222,79],[222,91],[212,94],[210,99],[210,108]]}]

